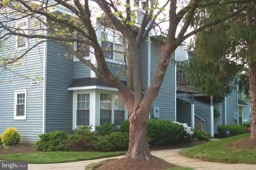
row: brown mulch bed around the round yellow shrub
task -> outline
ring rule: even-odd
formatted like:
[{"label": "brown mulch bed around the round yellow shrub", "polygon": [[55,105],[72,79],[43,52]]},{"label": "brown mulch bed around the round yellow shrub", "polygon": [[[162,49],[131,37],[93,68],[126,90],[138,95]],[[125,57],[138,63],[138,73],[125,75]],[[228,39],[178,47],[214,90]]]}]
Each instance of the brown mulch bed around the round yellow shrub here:
[{"label": "brown mulch bed around the round yellow shrub", "polygon": [[36,146],[33,144],[18,144],[11,146],[9,149],[0,148],[0,154],[13,154],[13,153],[27,153],[38,152]]}]

